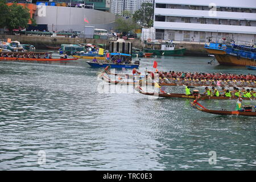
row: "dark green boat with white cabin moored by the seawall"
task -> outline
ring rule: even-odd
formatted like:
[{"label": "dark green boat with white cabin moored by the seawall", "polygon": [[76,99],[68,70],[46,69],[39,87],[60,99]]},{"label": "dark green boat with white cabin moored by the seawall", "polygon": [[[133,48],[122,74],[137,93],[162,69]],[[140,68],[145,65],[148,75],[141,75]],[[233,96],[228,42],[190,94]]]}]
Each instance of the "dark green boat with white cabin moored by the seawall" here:
[{"label": "dark green boat with white cabin moored by the seawall", "polygon": [[144,52],[153,53],[155,56],[183,56],[186,48],[177,47],[172,41],[170,42],[147,42],[145,43]]}]

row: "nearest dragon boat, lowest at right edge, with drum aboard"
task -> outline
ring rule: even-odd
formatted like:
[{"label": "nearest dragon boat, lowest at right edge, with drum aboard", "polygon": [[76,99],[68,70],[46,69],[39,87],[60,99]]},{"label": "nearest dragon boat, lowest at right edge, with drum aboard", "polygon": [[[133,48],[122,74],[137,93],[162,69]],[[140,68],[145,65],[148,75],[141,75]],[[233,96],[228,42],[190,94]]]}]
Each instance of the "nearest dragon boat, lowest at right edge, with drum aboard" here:
[{"label": "nearest dragon boat, lowest at right edge, with drum aboard", "polygon": [[[198,102],[191,102],[191,106],[205,113],[218,114],[218,115],[245,115],[245,116],[253,116],[256,117],[256,109],[255,106],[243,106],[244,111],[227,111],[225,109],[222,110],[209,110],[204,106],[200,105]],[[200,106],[200,107],[199,107]],[[252,110],[254,108],[254,111]]]}]

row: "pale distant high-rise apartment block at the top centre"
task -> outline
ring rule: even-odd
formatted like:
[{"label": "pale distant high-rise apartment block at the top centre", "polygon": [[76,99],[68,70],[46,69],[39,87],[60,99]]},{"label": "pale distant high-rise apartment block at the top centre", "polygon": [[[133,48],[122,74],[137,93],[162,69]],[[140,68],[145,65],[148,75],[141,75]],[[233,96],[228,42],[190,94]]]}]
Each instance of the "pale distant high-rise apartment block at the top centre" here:
[{"label": "pale distant high-rise apartment block at the top centre", "polygon": [[143,2],[153,3],[154,0],[112,0],[111,13],[121,15],[123,11],[127,10],[133,14],[141,8]]}]

